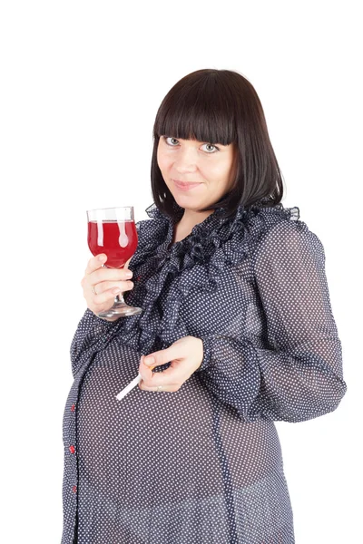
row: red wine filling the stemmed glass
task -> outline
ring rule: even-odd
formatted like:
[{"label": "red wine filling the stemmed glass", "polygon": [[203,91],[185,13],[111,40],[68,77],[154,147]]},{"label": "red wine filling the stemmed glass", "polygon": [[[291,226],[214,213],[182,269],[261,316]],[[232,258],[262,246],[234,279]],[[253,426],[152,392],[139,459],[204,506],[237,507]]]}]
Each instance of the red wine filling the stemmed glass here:
[{"label": "red wine filling the stemmed glass", "polygon": [[93,255],[107,255],[106,267],[121,268],[137,248],[134,221],[89,221],[88,247]]}]

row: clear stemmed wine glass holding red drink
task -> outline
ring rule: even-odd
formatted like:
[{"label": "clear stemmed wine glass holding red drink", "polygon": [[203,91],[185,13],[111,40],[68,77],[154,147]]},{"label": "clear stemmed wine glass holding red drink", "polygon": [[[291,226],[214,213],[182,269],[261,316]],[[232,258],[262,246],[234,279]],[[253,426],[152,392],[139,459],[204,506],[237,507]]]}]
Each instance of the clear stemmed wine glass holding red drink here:
[{"label": "clear stemmed wine glass holding red drink", "polygon": [[[122,268],[137,248],[137,230],[133,219],[133,207],[103,208],[87,210],[88,247],[93,256],[107,255],[106,268]],[[142,308],[128,306],[123,295],[114,298],[109,310],[98,317],[116,320],[120,316],[140,314]]]}]

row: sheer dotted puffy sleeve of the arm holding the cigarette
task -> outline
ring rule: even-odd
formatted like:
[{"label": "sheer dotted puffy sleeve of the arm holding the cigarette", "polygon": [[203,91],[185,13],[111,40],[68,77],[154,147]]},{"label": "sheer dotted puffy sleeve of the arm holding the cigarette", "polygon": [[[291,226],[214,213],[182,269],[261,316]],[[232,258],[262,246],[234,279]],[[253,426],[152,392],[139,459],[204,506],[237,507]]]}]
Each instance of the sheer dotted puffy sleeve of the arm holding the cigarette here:
[{"label": "sheer dotted puffy sleeve of the arm holding the cigarette", "polygon": [[319,238],[305,223],[281,221],[251,262],[269,348],[239,331],[201,336],[201,380],[247,422],[301,422],[334,411],[347,385]]}]

